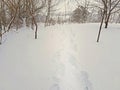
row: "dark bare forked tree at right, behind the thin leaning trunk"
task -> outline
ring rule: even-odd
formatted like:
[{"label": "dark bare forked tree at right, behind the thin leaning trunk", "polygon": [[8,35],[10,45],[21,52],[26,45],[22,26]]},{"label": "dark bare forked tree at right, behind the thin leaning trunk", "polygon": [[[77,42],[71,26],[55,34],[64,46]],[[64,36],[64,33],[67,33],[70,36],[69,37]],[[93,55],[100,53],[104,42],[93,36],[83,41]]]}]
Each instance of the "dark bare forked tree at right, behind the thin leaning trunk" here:
[{"label": "dark bare forked tree at right, behind the thin leaning trunk", "polygon": [[95,0],[97,2],[97,8],[101,9],[102,12],[104,12],[104,23],[105,23],[105,28],[108,27],[108,23],[110,20],[110,17],[112,14],[116,13],[119,11],[119,3],[120,0]]}]

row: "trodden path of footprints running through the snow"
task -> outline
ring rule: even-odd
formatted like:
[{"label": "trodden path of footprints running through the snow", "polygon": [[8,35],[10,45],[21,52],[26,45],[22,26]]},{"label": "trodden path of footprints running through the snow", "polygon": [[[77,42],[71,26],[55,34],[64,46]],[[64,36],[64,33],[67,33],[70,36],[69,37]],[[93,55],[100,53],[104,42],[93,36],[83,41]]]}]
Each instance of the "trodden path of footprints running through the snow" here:
[{"label": "trodden path of footprints running through the snow", "polygon": [[56,73],[53,76],[54,84],[50,90],[91,90],[92,85],[88,74],[82,71],[79,62],[77,62],[77,44],[75,34],[72,29],[61,30],[61,48],[53,59],[56,65]]}]

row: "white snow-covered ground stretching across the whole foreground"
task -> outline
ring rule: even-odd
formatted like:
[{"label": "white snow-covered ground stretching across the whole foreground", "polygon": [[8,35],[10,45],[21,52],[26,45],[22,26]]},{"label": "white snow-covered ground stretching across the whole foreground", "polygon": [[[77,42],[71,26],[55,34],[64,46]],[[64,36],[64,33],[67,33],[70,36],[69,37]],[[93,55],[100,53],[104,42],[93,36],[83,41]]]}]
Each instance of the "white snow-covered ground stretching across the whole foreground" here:
[{"label": "white snow-covered ground stretching across the whole foreground", "polygon": [[0,90],[120,90],[120,25],[21,28],[0,46]]}]

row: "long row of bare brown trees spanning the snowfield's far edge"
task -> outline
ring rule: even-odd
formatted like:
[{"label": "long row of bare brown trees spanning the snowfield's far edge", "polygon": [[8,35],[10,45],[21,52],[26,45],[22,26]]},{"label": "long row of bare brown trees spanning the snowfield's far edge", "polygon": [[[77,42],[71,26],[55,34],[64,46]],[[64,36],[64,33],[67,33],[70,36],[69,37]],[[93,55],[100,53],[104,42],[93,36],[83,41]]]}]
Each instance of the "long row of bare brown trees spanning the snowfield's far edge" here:
[{"label": "long row of bare brown trees spanning the snowfield's far edge", "polygon": [[74,1],[77,3],[75,10],[67,12],[66,8],[63,14],[56,13],[61,0],[0,0],[0,43],[2,36],[12,27],[18,30],[23,25],[34,29],[34,37],[37,39],[39,21],[45,23],[45,26],[66,22],[101,22],[97,38],[99,42],[103,23],[107,28],[109,22],[120,22],[120,0]]}]

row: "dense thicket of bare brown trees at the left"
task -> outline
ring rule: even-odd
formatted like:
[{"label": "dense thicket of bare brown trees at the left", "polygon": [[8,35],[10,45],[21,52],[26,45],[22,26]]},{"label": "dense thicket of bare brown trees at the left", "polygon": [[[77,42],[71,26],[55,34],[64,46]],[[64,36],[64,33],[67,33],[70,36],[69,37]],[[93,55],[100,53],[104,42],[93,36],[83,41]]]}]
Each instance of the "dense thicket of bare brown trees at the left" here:
[{"label": "dense thicket of bare brown trees at the left", "polygon": [[12,27],[16,29],[26,26],[35,26],[35,39],[37,39],[37,18],[45,6],[45,0],[0,0],[0,38],[9,32]]}]

